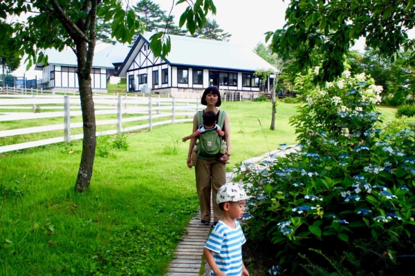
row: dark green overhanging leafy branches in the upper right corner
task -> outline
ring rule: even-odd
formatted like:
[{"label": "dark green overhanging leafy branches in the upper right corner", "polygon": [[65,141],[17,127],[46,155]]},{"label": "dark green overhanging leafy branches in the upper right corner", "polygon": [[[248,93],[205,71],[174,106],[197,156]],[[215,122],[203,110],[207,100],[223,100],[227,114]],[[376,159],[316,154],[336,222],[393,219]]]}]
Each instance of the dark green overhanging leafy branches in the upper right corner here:
[{"label": "dark green overhanging leafy branches in the upper right corner", "polygon": [[[344,70],[344,55],[360,37],[366,45],[394,61],[402,47],[413,50],[415,40],[407,30],[414,28],[414,1],[293,0],[286,10],[284,29],[268,32],[271,47],[279,57],[294,58],[298,68],[311,68],[311,53],[317,49],[322,60],[315,81],[333,81]],[[409,58],[415,62],[412,53]]]}]

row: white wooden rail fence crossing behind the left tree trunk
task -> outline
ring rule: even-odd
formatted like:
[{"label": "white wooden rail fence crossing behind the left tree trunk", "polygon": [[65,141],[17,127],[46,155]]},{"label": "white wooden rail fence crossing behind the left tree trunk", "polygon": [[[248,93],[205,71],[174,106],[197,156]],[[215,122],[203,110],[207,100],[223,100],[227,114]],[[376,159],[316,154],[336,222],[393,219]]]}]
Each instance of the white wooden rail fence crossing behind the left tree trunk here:
[{"label": "white wooden rail fence crossing behind the left tree trunk", "polygon": [[[120,132],[138,130],[160,126],[163,124],[175,124],[193,121],[193,115],[199,110],[199,99],[176,99],[176,98],[154,98],[138,97],[135,95],[98,95],[93,97],[95,103],[95,115],[117,114],[117,119],[96,121],[97,126],[116,124],[114,130],[97,132],[96,135],[113,135]],[[44,106],[48,105],[48,106]],[[2,110],[30,110],[30,112],[2,112]],[[59,110],[44,112],[44,110]],[[42,110],[42,112],[37,112]],[[137,117],[122,118],[123,114],[136,114]],[[0,152],[12,150],[21,150],[24,148],[33,148],[59,142],[69,142],[75,139],[83,139],[84,135],[71,135],[71,128],[82,128],[82,122],[72,123],[71,117],[81,116],[79,96],[64,95],[18,95],[2,94],[0,95],[0,122],[1,121],[19,121],[26,119],[42,119],[63,117],[64,124],[51,126],[37,126],[33,128],[19,128],[12,130],[0,130],[1,137],[10,137],[14,135],[26,135],[37,132],[47,132],[51,130],[64,130],[63,137],[42,139],[30,141],[21,144],[0,146]],[[165,121],[156,121],[154,119],[167,117]],[[176,117],[185,117],[185,119],[176,119]],[[122,124],[131,121],[147,121],[147,124],[138,124],[123,128]]]}]

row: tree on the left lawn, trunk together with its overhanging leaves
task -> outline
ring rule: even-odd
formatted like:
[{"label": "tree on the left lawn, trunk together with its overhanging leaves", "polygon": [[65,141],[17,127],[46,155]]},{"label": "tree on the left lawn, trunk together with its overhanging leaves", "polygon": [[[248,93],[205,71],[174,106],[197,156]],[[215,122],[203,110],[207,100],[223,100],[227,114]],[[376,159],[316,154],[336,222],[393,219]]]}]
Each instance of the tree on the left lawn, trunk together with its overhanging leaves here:
[{"label": "tree on the left lawn, trunk together with its overhanging leaves", "polygon": [[[183,3],[179,0],[177,3]],[[203,8],[202,8],[203,7]],[[208,11],[216,13],[212,0],[197,0],[185,10],[186,26],[191,33],[201,28]],[[3,19],[29,13],[24,23],[6,23]],[[38,51],[55,48],[72,48],[77,56],[77,75],[80,87],[80,101],[84,139],[82,157],[75,190],[83,192],[89,189],[95,159],[95,112],[91,86],[91,68],[97,39],[97,18],[111,21],[111,38],[122,42],[131,42],[137,30],[145,25],[136,17],[133,10],[124,10],[122,3],[116,0],[3,0],[0,10],[0,31],[3,39],[0,43],[0,56],[3,53],[18,52],[28,55],[28,68],[33,63],[44,61],[47,57]],[[13,39],[11,39],[13,38]],[[14,43],[13,43],[13,41]],[[169,38],[163,32],[151,37],[150,47],[154,55],[164,58],[171,46]]]}]

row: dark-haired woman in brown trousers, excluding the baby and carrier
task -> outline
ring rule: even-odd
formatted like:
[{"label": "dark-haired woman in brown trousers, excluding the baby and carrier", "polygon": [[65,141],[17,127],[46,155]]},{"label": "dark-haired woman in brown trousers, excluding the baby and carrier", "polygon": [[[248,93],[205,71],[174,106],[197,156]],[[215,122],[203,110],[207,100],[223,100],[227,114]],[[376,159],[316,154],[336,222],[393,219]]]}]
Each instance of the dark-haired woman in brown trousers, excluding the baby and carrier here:
[{"label": "dark-haired woman in brown trousers, excluding the baby and carrier", "polygon": [[[205,89],[203,92],[201,103],[206,106],[202,112],[212,111],[216,114],[216,121],[219,121],[220,112],[219,106],[221,106],[221,95],[219,89],[210,86]],[[203,124],[200,122],[199,124]],[[197,115],[194,115],[193,119],[193,130],[195,132],[199,128]],[[225,177],[225,162],[230,159],[230,123],[229,117],[225,114],[225,120],[223,123],[222,130],[225,132],[225,141],[227,145],[227,150],[224,155],[218,158],[208,158],[199,155],[196,159],[196,164],[194,166],[194,172],[196,175],[196,189],[197,195],[199,197],[199,204],[201,208],[201,223],[210,224],[210,219],[212,214],[210,211],[210,202],[212,195],[213,203],[213,221],[216,225],[217,221],[222,217],[222,211],[216,204],[216,194],[218,193],[219,188],[226,182]],[[196,138],[190,140],[189,152],[187,153],[187,167],[192,168],[192,151],[196,143]]]}]

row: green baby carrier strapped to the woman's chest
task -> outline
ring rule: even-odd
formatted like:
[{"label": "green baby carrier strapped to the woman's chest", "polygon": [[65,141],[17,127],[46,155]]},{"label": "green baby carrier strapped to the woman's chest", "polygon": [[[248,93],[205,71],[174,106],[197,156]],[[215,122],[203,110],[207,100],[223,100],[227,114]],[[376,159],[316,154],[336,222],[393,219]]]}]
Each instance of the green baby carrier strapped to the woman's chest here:
[{"label": "green baby carrier strapped to the woman's chest", "polygon": [[[218,124],[223,130],[223,123],[225,122],[225,111],[219,110],[219,119],[216,124]],[[200,127],[203,125],[203,110],[197,112],[197,124]],[[218,159],[219,151],[222,146],[222,137],[219,136],[216,130],[208,130],[199,135],[199,142],[197,143],[196,152],[198,157],[206,160]]]}]

